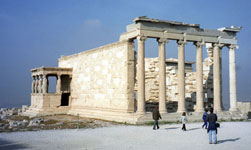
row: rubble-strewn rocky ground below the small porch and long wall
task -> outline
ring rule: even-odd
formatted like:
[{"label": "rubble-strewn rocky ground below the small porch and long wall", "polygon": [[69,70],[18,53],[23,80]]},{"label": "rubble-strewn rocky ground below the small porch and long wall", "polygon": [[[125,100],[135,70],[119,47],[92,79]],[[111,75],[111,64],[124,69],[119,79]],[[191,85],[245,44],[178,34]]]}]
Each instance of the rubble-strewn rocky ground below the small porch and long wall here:
[{"label": "rubble-strewn rocky ground below the small porch and long wall", "polygon": [[0,109],[0,132],[37,131],[52,129],[76,129],[107,127],[114,122],[106,122],[70,115],[54,115],[29,118],[22,116],[19,109]]}]

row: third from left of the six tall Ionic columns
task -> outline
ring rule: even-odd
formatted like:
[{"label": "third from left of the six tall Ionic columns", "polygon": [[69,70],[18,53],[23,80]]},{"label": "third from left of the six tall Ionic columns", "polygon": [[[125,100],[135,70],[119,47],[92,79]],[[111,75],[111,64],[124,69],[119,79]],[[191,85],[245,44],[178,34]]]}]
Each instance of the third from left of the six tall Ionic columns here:
[{"label": "third from left of the six tall Ionic columns", "polygon": [[178,110],[177,112],[185,112],[185,42],[182,40],[178,43]]}]

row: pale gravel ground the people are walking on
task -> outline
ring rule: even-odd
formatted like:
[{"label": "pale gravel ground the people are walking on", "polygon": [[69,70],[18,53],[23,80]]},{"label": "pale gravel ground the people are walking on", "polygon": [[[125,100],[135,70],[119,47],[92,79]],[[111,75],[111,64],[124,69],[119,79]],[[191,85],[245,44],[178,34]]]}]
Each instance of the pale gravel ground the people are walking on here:
[{"label": "pale gravel ground the people are walking on", "polygon": [[224,122],[218,144],[208,144],[202,123],[152,126],[112,125],[96,129],[43,130],[0,134],[0,149],[61,150],[250,150],[251,122]]}]

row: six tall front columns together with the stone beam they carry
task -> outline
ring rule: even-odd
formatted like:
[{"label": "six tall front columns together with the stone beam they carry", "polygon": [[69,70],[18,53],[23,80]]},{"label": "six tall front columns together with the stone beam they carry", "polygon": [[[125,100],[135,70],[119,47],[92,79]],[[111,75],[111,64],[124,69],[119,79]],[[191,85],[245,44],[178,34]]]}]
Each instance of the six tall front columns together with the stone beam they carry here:
[{"label": "six tall front columns together with the stone beam they carry", "polygon": [[178,110],[186,111],[185,108],[185,44],[193,42],[196,47],[196,112],[203,112],[203,66],[202,50],[206,44],[207,48],[213,49],[213,81],[214,81],[214,110],[222,111],[221,91],[221,50],[224,46],[229,48],[229,81],[230,81],[230,111],[237,111],[236,95],[236,69],[235,50],[237,47],[236,33],[241,28],[220,28],[218,30],[202,29],[198,24],[186,24],[182,22],[165,21],[138,17],[134,24],[127,26],[127,32],[120,36],[120,41],[138,41],[138,70],[137,70],[137,113],[145,114],[145,40],[156,38],[159,45],[159,110],[166,110],[166,75],[165,75],[165,44],[168,40],[176,40],[178,45]]}]

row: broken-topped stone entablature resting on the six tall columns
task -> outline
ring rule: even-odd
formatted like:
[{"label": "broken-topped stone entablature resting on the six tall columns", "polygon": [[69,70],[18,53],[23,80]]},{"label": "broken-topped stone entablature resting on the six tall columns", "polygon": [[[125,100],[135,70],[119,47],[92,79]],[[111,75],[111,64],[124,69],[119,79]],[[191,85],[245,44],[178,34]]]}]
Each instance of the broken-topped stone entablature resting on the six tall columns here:
[{"label": "broken-topped stone entablature resting on the six tall columns", "polygon": [[200,28],[199,24],[166,21],[138,17],[134,24],[127,25],[126,33],[121,34],[120,40],[134,39],[142,35],[149,38],[184,40],[185,42],[204,41],[205,43],[237,44],[236,33],[241,27],[219,28],[210,30]]}]

